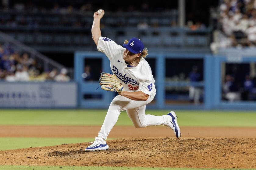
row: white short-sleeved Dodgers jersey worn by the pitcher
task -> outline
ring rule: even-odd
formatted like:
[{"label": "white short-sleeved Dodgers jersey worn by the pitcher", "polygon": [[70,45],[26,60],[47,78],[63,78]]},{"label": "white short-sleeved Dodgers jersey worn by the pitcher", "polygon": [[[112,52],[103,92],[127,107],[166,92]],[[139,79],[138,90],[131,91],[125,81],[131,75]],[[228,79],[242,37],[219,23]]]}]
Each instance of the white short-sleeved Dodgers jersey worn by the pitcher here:
[{"label": "white short-sleeved Dodgers jersey worn by the pitcher", "polygon": [[148,95],[156,92],[155,80],[148,62],[142,58],[136,67],[127,66],[123,60],[124,50],[125,48],[109,38],[99,38],[98,51],[108,57],[110,68],[113,74],[119,78],[125,91],[142,91]]}]

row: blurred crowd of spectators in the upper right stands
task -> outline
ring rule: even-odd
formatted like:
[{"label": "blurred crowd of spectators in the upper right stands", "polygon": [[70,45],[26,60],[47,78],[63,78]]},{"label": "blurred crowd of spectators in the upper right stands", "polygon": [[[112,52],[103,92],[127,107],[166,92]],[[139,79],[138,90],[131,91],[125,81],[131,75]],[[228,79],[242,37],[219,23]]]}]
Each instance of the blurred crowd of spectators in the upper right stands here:
[{"label": "blurred crowd of spectators in the upper right stands", "polygon": [[224,0],[219,10],[218,47],[256,45],[256,0]]}]

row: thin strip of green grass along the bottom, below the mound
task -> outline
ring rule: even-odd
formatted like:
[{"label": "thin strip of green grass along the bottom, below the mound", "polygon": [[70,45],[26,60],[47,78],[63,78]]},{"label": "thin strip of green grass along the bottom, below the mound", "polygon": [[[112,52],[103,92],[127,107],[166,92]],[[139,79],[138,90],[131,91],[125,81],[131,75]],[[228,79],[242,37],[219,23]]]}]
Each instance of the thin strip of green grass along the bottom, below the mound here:
[{"label": "thin strip of green grass along the bottom, below the mound", "polygon": [[[61,167],[61,168],[60,168]],[[228,169],[218,169],[218,168],[142,168],[142,167],[96,167],[96,166],[0,166],[2,170],[233,170],[239,168],[228,168]],[[239,170],[249,170],[249,169],[239,169]]]}]

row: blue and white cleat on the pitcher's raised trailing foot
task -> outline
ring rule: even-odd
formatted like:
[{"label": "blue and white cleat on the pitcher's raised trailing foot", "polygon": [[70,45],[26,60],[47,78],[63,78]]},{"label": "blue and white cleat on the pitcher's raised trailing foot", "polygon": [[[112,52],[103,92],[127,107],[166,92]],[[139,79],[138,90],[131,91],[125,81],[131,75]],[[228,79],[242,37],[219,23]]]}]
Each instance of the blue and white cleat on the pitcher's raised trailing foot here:
[{"label": "blue and white cleat on the pitcher's raised trailing foot", "polygon": [[176,116],[175,112],[171,111],[166,116],[167,116],[166,117],[167,120],[166,120],[166,123],[164,125],[167,126],[167,127],[170,127],[173,130],[176,138],[179,139],[181,133],[180,133],[180,127],[177,123],[177,116]]}]

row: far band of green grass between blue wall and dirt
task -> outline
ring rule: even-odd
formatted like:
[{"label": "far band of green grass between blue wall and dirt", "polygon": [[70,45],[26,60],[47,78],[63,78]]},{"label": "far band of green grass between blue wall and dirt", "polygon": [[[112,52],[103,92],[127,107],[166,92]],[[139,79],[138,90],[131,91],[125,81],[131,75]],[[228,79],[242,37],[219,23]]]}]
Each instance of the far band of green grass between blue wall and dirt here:
[{"label": "far band of green grass between blue wall and dirt", "polygon": [[[107,110],[1,110],[0,125],[95,125],[101,126]],[[146,114],[163,115],[168,110],[146,110]],[[252,111],[176,111],[180,126],[256,127]],[[133,126],[123,111],[116,126]]]}]

